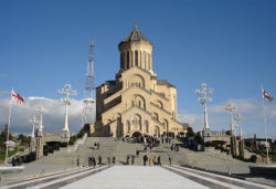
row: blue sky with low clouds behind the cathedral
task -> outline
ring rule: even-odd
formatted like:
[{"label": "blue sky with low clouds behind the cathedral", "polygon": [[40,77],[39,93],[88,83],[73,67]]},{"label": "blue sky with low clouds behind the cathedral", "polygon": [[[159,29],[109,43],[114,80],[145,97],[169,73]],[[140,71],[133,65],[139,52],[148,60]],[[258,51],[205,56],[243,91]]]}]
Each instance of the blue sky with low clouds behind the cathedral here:
[{"label": "blue sky with low clouds behind the cathedral", "polygon": [[[43,104],[44,130],[63,127],[57,90],[77,91],[70,128],[81,127],[88,42],[95,40],[95,85],[119,71],[118,44],[134,29],[152,42],[153,71],[178,87],[178,119],[203,128],[201,83],[214,88],[208,104],[211,129],[230,129],[227,103],[237,106],[247,137],[264,137],[261,85],[276,96],[276,1],[274,0],[2,0],[0,1],[0,127],[30,133],[29,118]],[[276,138],[276,105],[265,102],[268,137]],[[236,113],[235,113],[236,114]],[[238,129],[238,128],[236,128]]]}]

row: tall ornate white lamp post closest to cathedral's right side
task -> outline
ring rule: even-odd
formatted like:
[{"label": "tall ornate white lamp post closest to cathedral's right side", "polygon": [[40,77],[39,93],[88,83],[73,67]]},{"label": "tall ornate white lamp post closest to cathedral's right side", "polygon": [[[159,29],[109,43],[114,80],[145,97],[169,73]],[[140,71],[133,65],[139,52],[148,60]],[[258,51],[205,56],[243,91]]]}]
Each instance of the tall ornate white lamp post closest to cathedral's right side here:
[{"label": "tall ornate white lamp post closest to cathedral's right side", "polygon": [[200,90],[195,90],[194,93],[199,95],[199,102],[204,105],[204,128],[205,129],[210,129],[209,126],[209,122],[208,122],[208,109],[206,109],[206,103],[212,102],[212,97],[210,97],[209,95],[213,93],[213,88],[208,88],[206,87],[206,83],[202,83],[201,84],[201,91]]}]

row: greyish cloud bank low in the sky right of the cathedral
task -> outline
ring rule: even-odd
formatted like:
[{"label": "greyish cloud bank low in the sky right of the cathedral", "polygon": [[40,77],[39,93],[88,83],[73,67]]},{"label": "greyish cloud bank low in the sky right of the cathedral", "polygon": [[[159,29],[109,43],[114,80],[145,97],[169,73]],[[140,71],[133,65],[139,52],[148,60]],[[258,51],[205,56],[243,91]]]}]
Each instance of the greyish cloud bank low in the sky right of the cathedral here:
[{"label": "greyish cloud bank low in the sky right of the cathedral", "polygon": [[[256,98],[238,98],[227,99],[220,104],[211,104],[208,106],[209,125],[212,130],[227,130],[230,129],[230,114],[225,111],[225,106],[232,102],[237,106],[236,116],[240,113],[245,119],[242,122],[243,130],[247,137],[257,134],[264,137],[264,114],[261,99]],[[203,129],[203,107],[200,112],[189,112],[187,109],[179,111],[179,120],[189,123],[195,132]],[[276,105],[273,103],[265,104],[265,112],[267,117],[268,137],[276,138]],[[236,128],[238,133],[240,128]]]}]

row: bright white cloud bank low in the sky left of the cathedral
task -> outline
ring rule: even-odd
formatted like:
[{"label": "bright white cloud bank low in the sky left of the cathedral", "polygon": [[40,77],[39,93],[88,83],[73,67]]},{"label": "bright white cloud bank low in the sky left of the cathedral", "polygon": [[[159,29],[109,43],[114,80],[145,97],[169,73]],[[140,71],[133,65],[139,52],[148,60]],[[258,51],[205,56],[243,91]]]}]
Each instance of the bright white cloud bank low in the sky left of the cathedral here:
[{"label": "bright white cloud bank low in the sky left of the cathedral", "polygon": [[[3,127],[8,123],[10,99],[0,99],[0,125]],[[10,129],[14,133],[31,133],[29,118],[39,115],[35,109],[43,105],[46,113],[43,115],[44,132],[61,132],[64,126],[65,107],[62,99],[51,99],[46,97],[31,96],[25,98],[25,103],[12,105],[12,119]],[[83,102],[72,99],[68,106],[68,127],[71,132],[78,132],[82,125]],[[94,113],[95,115],[95,113]],[[95,116],[94,116],[95,117]]]}]

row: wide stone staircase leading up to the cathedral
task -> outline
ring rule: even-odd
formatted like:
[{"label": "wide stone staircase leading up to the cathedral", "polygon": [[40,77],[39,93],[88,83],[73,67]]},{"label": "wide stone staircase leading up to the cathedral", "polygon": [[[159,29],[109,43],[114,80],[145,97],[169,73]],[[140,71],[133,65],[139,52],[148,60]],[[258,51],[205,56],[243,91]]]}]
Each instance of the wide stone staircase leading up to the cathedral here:
[{"label": "wide stone staircase leading up to the cathedral", "polygon": [[[180,141],[173,140],[180,145]],[[99,143],[99,149],[94,148],[94,143]],[[76,159],[79,158],[81,166],[88,165],[88,157],[94,156],[98,161],[98,156],[102,156],[103,164],[107,164],[108,157],[116,157],[116,165],[124,165],[127,156],[136,156],[136,150],[139,150],[139,157],[135,157],[135,165],[142,165],[142,157],[145,154],[149,158],[153,156],[161,158],[162,165],[169,165],[169,155],[172,157],[172,164],[174,165],[189,165],[192,167],[200,167],[204,169],[215,169],[217,171],[230,171],[229,166],[237,167],[232,172],[248,171],[248,164],[233,159],[230,155],[219,153],[204,153],[204,151],[192,151],[180,147],[179,151],[170,150],[171,144],[160,144],[159,147],[148,148],[147,151],[142,151],[144,145],[131,141],[117,140],[113,137],[88,137],[83,145],[79,145],[75,153],[54,153],[46,157],[43,157],[39,164],[51,164],[51,165],[68,165],[76,166]],[[129,159],[129,164],[131,158]]]}]

